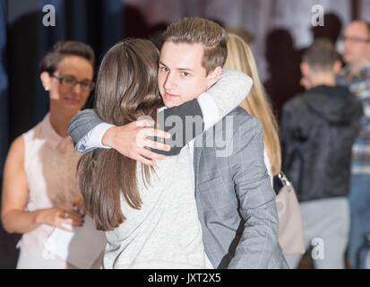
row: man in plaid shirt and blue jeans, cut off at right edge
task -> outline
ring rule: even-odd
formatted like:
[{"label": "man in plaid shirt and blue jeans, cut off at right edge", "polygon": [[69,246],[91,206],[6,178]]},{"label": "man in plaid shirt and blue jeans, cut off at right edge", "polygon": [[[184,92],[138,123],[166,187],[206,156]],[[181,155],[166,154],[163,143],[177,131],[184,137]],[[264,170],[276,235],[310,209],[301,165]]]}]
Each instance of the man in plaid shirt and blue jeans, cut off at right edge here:
[{"label": "man in plaid shirt and blue jeans, cut off at right edge", "polygon": [[337,83],[348,86],[362,101],[365,112],[352,149],[348,261],[352,268],[365,268],[368,248],[363,247],[368,246],[366,235],[370,234],[370,23],[349,23],[342,39],[347,65],[340,71]]}]

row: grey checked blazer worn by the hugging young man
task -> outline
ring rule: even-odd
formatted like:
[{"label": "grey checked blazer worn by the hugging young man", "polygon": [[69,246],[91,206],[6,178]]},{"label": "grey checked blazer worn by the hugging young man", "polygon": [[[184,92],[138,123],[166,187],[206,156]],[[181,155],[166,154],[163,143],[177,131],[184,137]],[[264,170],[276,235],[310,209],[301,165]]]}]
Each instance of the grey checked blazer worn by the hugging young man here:
[{"label": "grey checked blazer worn by the hugging young man", "polygon": [[[90,110],[68,127],[78,143],[101,119]],[[262,124],[237,108],[194,140],[195,198],[204,250],[218,268],[288,268],[278,242],[275,193],[263,161]]]}]

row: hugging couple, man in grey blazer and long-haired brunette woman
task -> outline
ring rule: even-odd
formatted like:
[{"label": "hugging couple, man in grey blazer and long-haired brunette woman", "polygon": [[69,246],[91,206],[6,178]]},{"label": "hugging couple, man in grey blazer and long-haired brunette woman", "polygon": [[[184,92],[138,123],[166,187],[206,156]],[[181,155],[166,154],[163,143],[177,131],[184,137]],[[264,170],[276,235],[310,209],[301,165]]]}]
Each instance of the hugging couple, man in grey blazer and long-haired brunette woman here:
[{"label": "hugging couple, man in grey blazer and long-haired brunette woman", "polygon": [[183,18],[160,54],[125,39],[102,59],[95,109],[68,126],[87,213],[106,230],[102,268],[288,268],[262,124],[238,107],[253,83],[222,70],[227,41]]}]

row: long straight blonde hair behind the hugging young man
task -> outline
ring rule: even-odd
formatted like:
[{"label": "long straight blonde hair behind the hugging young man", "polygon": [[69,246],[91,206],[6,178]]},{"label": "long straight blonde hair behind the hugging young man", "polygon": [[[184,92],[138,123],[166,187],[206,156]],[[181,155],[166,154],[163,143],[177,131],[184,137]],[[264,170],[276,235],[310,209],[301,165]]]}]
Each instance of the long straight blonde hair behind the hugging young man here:
[{"label": "long straight blonde hair behind the hugging young man", "polygon": [[252,90],[240,104],[240,107],[261,121],[264,146],[271,161],[271,173],[276,175],[281,169],[278,123],[273,115],[271,102],[258,76],[252,50],[243,39],[233,33],[228,33],[228,58],[225,68],[248,74],[254,81]]}]

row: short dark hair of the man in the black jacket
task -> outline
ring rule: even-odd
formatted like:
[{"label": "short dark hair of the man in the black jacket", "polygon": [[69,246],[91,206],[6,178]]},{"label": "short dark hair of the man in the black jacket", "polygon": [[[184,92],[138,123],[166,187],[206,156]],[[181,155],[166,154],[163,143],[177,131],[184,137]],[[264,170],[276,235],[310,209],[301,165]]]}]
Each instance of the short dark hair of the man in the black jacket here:
[{"label": "short dark hair of the man in the black jacket", "polygon": [[315,39],[314,43],[305,50],[303,62],[307,63],[314,71],[329,72],[340,55],[329,39]]}]

